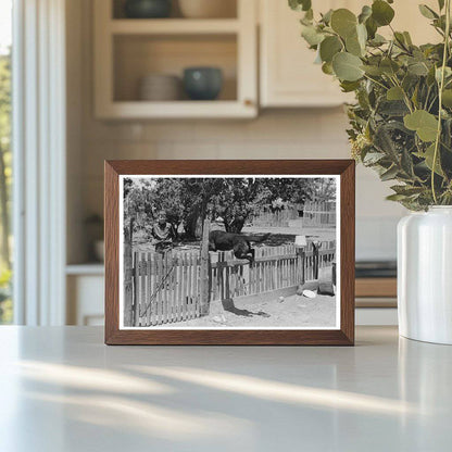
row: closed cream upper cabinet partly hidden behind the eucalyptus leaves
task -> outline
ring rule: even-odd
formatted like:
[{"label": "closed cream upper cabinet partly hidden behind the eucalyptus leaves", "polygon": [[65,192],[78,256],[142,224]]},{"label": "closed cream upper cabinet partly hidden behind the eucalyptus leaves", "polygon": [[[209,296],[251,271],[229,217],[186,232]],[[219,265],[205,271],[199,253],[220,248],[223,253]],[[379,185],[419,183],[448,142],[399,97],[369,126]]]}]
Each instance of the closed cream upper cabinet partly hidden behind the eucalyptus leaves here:
[{"label": "closed cream upper cabinet partly hidden behind the eucalyptus leaves", "polygon": [[[436,0],[426,4],[438,9]],[[361,11],[365,0],[323,0],[314,2],[314,11],[348,8]],[[399,1],[393,27],[409,30],[414,43],[438,41],[428,21],[420,14],[417,4]],[[260,0],[260,103],[263,108],[335,106],[353,99],[344,95],[338,81],[314,64],[315,52],[301,38],[299,17],[302,13],[290,10],[287,1]],[[390,35],[389,27],[379,29]]]}]

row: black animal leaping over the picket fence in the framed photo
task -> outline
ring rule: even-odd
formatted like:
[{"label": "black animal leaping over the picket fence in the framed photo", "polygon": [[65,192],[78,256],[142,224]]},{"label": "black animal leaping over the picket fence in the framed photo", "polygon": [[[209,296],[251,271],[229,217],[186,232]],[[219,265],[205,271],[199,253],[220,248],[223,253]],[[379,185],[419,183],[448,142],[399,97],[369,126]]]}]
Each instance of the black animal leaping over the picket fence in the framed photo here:
[{"label": "black animal leaping over the picket fence in the framed photo", "polygon": [[212,230],[209,234],[209,250],[210,251],[230,251],[234,250],[234,255],[237,259],[248,259],[250,264],[254,262],[254,249],[251,248],[250,242],[261,243],[269,237],[269,234],[264,236],[242,236],[241,234],[225,233],[223,230]]}]

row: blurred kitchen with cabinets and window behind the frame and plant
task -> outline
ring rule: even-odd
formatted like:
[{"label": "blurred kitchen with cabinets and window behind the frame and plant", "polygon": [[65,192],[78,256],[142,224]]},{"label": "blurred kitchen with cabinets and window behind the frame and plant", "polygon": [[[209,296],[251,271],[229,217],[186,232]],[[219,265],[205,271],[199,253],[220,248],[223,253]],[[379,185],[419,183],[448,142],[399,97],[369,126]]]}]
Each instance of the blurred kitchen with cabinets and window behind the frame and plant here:
[{"label": "blurred kitchen with cabinets and window behind the frame and plant", "polygon": [[[420,20],[407,1],[394,8],[397,28]],[[0,9],[1,323],[103,323],[104,160],[350,158],[352,99],[314,64],[286,1],[0,0]],[[419,40],[429,38],[423,29]],[[357,167],[362,324],[397,322],[395,226],[405,212],[387,194]]]}]

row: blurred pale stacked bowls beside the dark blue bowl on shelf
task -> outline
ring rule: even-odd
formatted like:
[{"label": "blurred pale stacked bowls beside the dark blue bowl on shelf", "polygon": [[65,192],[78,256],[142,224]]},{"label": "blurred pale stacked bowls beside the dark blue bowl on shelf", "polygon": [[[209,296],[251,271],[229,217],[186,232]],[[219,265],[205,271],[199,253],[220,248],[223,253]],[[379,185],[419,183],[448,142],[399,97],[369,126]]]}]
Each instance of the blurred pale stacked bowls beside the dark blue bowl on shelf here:
[{"label": "blurred pale stacked bowls beside the dark blue bowl on shelf", "polygon": [[149,74],[140,79],[139,100],[175,101],[181,98],[181,81],[175,75]]}]

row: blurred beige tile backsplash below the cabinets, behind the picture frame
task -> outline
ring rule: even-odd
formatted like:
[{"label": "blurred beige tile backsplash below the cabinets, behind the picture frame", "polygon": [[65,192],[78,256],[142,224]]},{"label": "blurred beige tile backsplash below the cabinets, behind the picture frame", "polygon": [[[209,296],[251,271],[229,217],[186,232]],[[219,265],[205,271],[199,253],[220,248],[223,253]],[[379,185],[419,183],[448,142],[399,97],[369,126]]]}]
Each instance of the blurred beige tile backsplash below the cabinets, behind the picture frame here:
[{"label": "blurred beige tile backsplash below the cabinets, behind the picture frame", "polygon": [[[85,215],[102,213],[104,159],[347,159],[346,127],[342,109],[271,111],[253,121],[91,120],[81,137]],[[394,225],[404,210],[386,201],[388,193],[388,184],[357,167],[359,259],[395,256]]]}]

